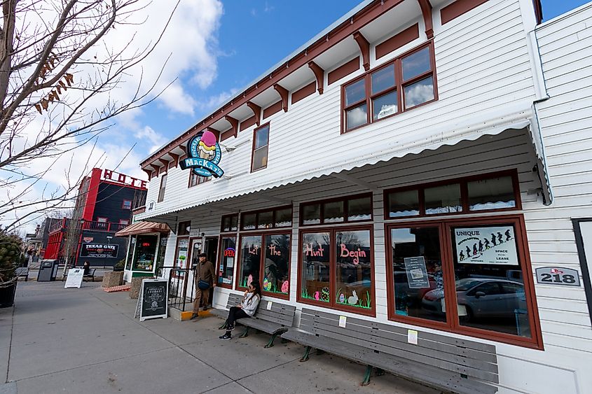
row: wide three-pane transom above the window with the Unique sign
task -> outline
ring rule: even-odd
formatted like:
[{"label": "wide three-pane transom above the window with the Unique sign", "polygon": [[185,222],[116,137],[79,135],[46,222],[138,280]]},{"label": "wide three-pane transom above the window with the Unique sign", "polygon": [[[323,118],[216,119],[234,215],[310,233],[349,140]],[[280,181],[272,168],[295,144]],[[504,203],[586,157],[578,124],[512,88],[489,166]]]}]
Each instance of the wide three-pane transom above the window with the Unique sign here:
[{"label": "wide three-pane transom above the window with the Unique sign", "polygon": [[384,201],[385,219],[521,208],[515,170],[386,190]]}]

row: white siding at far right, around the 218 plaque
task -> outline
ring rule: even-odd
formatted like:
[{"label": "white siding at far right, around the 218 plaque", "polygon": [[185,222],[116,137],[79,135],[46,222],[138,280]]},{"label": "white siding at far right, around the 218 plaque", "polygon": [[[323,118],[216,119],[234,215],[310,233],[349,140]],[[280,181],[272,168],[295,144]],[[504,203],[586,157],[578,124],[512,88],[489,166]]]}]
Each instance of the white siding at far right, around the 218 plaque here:
[{"label": "white siding at far right, around the 218 plaque", "polygon": [[[536,31],[550,99],[536,104],[553,190],[551,206],[525,211],[533,269],[581,272],[572,218],[592,217],[592,3]],[[592,387],[592,327],[584,288],[537,285],[547,351],[573,360],[578,391]]]}]

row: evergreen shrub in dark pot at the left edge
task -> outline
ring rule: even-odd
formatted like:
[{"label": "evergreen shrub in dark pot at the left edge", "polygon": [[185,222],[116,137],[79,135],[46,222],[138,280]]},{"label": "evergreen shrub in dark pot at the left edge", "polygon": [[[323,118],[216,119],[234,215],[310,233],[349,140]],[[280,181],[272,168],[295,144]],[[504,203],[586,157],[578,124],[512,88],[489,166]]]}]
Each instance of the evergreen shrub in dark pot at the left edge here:
[{"label": "evergreen shrub in dark pot at the left edge", "polygon": [[15,301],[17,267],[22,260],[22,242],[15,235],[0,232],[0,308],[12,307]]}]

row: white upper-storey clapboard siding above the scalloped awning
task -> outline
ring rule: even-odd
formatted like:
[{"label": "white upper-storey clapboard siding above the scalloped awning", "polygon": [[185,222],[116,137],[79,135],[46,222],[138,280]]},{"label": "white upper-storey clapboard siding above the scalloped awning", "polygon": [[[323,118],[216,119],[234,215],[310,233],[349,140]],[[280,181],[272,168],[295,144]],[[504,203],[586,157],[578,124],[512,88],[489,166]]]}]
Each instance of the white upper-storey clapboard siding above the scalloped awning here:
[{"label": "white upper-storey clapboard siding above the scalloped awning", "polygon": [[[329,86],[325,76],[323,94],[315,92],[290,104],[287,113],[280,111],[266,118],[270,121],[270,133],[265,170],[249,172],[253,129],[249,127],[232,139],[230,145],[238,146],[236,150],[222,153],[219,165],[226,176],[232,176],[231,181],[223,177],[188,191],[187,171],[179,167],[170,169],[165,200],[156,203],[154,211],[147,214],[252,192],[254,185],[258,189],[273,187],[299,174],[337,169],[344,161],[366,162],[380,150],[417,146],[432,141],[434,136],[455,132],[463,125],[499,120],[504,115],[529,110],[534,88],[519,1],[488,1],[444,27],[438,21],[434,17],[439,101],[340,135],[340,85],[359,76],[363,69]],[[384,39],[380,38],[378,43]],[[420,22],[420,38],[379,61],[372,55],[371,66],[388,62],[426,39]],[[479,118],[474,118],[477,113]],[[353,147],[362,140],[364,146],[371,148],[354,153]],[[336,152],[343,154],[327,154]],[[158,183],[158,178],[153,179],[146,201],[157,201]]]}]

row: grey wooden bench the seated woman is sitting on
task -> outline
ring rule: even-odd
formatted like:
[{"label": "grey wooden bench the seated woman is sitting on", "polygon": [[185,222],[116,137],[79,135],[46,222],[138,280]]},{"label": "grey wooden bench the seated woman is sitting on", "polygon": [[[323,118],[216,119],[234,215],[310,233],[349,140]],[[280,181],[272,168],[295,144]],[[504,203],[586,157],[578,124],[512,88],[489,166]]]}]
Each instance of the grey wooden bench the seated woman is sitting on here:
[{"label": "grey wooden bench the seated woman is sitting on", "polygon": [[[228,295],[226,308],[230,309],[230,307],[235,307],[240,304],[241,300],[242,296],[238,294]],[[270,305],[270,310],[268,310],[268,302],[272,303]],[[223,309],[212,309],[210,313],[221,318],[228,317],[228,311]],[[245,332],[240,335],[240,338],[249,335],[249,328],[267,332],[271,335],[271,338],[265,347],[270,348],[273,346],[273,341],[277,335],[281,335],[291,328],[292,323],[294,322],[294,314],[296,314],[296,307],[291,305],[275,301],[261,301],[259,302],[259,308],[252,318],[240,318],[237,320],[237,323],[246,327]],[[226,323],[221,325],[220,328],[226,328]]]}]

